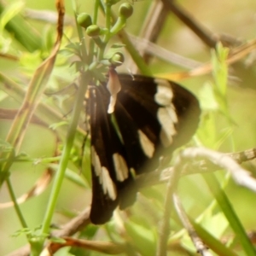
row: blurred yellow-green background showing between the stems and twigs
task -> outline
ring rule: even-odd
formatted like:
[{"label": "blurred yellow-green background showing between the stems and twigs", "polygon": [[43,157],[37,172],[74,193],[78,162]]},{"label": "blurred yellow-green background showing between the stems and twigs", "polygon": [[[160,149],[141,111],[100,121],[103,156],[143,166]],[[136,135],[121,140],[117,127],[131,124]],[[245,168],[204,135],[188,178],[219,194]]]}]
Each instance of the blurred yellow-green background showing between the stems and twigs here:
[{"label": "blurred yellow-green background showing between the stems and twigs", "polygon": [[[18,3],[19,1],[5,1],[4,3],[9,5],[11,3]],[[151,0],[136,1],[133,3],[134,15],[128,20],[126,31],[131,32],[133,35],[137,35],[141,27],[143,26],[143,19],[148,11],[148,6]],[[256,2],[253,0],[239,1],[239,0],[197,0],[197,1],[178,1],[184,9],[188,10],[190,15],[198,20],[201,25],[207,27],[207,29],[214,34],[227,34],[232,38],[241,40],[241,42],[247,42],[255,38],[256,29]],[[23,2],[24,9],[36,9],[36,10],[51,10],[55,11],[55,5],[53,1],[25,1]],[[66,14],[73,19],[72,3],[66,1]],[[93,1],[79,1],[79,12],[90,13],[92,11]],[[48,50],[51,49],[55,38],[55,25],[46,23],[44,21],[31,20],[27,21],[35,29],[38,36],[42,38],[44,44],[44,55],[47,55]],[[102,24],[101,24],[102,22]],[[103,19],[100,20],[99,25],[104,25]],[[12,40],[11,35],[5,31],[1,31],[1,45],[0,52],[9,47],[8,52],[12,55],[19,55],[20,61],[11,61],[9,59],[0,56],[0,71],[4,73],[10,79],[14,79],[18,83],[22,83],[22,86],[26,88],[29,79],[32,77],[32,73],[35,71],[40,63],[40,53],[29,53],[20,44]],[[67,38],[63,39],[62,49],[71,42],[77,42],[77,34],[75,26],[66,26],[65,34]],[[4,39],[10,40],[10,46]],[[165,26],[161,31],[160,38],[157,40],[157,44],[161,47],[172,51],[178,55],[182,55],[191,58],[195,61],[202,63],[209,62],[211,60],[210,49],[208,49],[199,38],[191,32],[189,28],[174,15],[169,15],[166,20]],[[253,54],[251,55],[253,57]],[[242,60],[246,61],[246,59]],[[253,62],[254,63],[254,62]],[[223,143],[216,148],[216,144],[219,137],[226,131],[226,120],[219,113],[215,116],[214,128],[209,136],[209,143],[205,145],[209,148],[217,149],[223,152],[241,151],[248,148],[255,147],[256,144],[256,83],[255,83],[255,64],[250,67],[245,67],[244,73],[232,73],[232,78],[228,84],[228,105],[231,119],[233,119],[235,125],[232,125],[231,135],[225,137]],[[154,73],[172,73],[185,70],[182,67],[177,67],[174,63],[167,61],[154,60],[150,64],[151,70]],[[69,69],[68,69],[69,68]],[[230,68],[232,71],[232,67]],[[247,69],[249,72],[247,72]],[[126,71],[129,67],[126,64],[119,70]],[[54,74],[49,82],[49,89],[60,90],[61,88],[71,84],[75,78],[73,67],[69,67],[69,63],[65,61],[65,55],[60,55],[57,60]],[[235,77],[235,79],[234,79]],[[181,84],[195,92],[195,95],[199,97],[201,102],[202,88],[212,82],[212,75],[202,75],[200,77],[189,78],[180,81]],[[61,85],[60,85],[61,84]],[[50,104],[53,102],[60,113],[63,115],[69,113],[72,109],[72,96],[70,99],[63,96],[45,97],[45,102]],[[3,85],[0,88],[0,108],[19,108],[20,102],[16,102],[11,97],[7,96],[3,92]],[[206,110],[207,111],[212,111]],[[202,116],[202,119],[205,115]],[[83,123],[83,120],[81,121]],[[0,120],[0,137],[4,140],[6,137],[11,120]],[[232,137],[232,139],[230,138]],[[212,141],[211,141],[212,140]],[[213,142],[213,143],[212,143]],[[81,139],[81,147],[82,147]],[[50,157],[55,151],[55,134],[47,128],[40,127],[39,125],[30,125],[26,131],[26,137],[22,143],[20,152],[28,154],[33,159],[40,159]],[[254,160],[245,165],[251,172],[255,174]],[[17,196],[22,195],[37,181],[38,177],[42,175],[46,166],[44,164],[35,165],[33,162],[19,162],[12,166],[11,180],[15,186],[15,193]],[[81,170],[78,166],[70,164],[69,168],[80,175]],[[224,171],[219,171],[218,176],[224,180]],[[81,179],[84,179],[81,176]],[[37,228],[44,218],[45,207],[50,193],[49,187],[44,191],[42,195],[38,195],[29,201],[26,201],[20,206],[29,226]],[[150,189],[149,189],[150,190]],[[151,191],[143,191],[143,195],[149,197],[149,194],[153,195],[153,199],[147,199],[142,196],[139,197],[139,203],[136,203],[134,212],[137,212],[137,216],[140,217],[144,214],[151,215],[154,219],[160,218],[160,206],[159,201],[163,201],[165,193],[165,185],[155,186]],[[212,202],[212,195],[207,189],[207,185],[204,183],[200,175],[193,175],[189,177],[183,177],[179,183],[179,192],[183,201],[183,205],[189,212],[189,216],[196,218],[203,212],[207,206]],[[148,194],[147,194],[148,193]],[[233,181],[230,181],[226,193],[233,204],[234,209],[238,217],[241,219],[241,223],[246,230],[255,230],[256,218],[254,216],[256,200],[255,194],[238,187]],[[156,199],[155,199],[156,198]],[[0,202],[10,201],[8,191],[3,186],[1,189]],[[151,202],[155,203],[151,204]],[[77,184],[72,183],[69,180],[65,180],[61,189],[61,196],[57,204],[57,212],[55,213],[54,223],[65,224],[70,216],[63,214],[63,212],[69,212],[71,215],[75,214],[87,205],[90,204],[90,189],[84,189]],[[148,213],[148,208],[152,207],[152,212]],[[147,210],[145,210],[145,208]],[[218,216],[213,213],[209,213],[209,218],[205,217],[205,225],[207,230],[212,231],[212,234],[218,233],[218,231],[228,224],[224,220],[221,212],[218,212]],[[135,213],[136,214],[136,213]],[[212,216],[215,216],[213,219]],[[154,223],[154,221],[153,221]],[[26,244],[25,236],[20,235],[13,237],[12,235],[20,230],[20,223],[15,215],[15,211],[12,207],[0,210],[0,255],[13,252],[15,249]],[[225,229],[226,236],[230,235],[230,229]],[[216,232],[216,233],[214,233]],[[217,235],[216,235],[217,236]],[[239,252],[239,249],[238,249]],[[65,253],[59,253],[58,255],[67,255]],[[85,254],[84,254],[85,255]],[[87,254],[86,254],[87,255]],[[96,255],[99,255],[96,253]],[[179,254],[177,254],[179,255]],[[183,255],[183,254],[181,254]],[[242,254],[241,254],[242,255]]]}]

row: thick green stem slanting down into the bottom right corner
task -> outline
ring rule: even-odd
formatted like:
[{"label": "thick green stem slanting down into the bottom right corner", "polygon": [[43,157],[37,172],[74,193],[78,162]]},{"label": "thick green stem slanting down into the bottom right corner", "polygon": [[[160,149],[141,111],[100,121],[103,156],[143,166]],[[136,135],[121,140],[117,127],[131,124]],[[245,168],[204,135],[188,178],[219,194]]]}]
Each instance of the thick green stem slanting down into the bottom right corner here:
[{"label": "thick green stem slanting down into the bottom right corner", "polygon": [[209,189],[218,201],[219,207],[221,207],[224,212],[225,217],[228,219],[232,230],[234,230],[236,236],[241,241],[241,246],[243,247],[246,255],[255,256],[256,251],[253,248],[252,243],[247,237],[246,231],[243,229],[239,218],[236,216],[236,212],[228,200],[227,195],[225,195],[224,190],[218,185],[218,180],[213,173],[207,173],[203,176],[207,182]]}]

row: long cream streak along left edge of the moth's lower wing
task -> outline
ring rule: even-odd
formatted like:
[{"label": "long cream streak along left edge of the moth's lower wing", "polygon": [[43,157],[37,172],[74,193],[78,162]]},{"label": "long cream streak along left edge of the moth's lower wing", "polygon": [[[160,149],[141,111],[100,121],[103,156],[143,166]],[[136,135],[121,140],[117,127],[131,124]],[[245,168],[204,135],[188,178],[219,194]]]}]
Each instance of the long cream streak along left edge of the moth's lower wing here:
[{"label": "long cream streak along left edge of the moth's lower wing", "polygon": [[115,200],[117,197],[116,187],[111,177],[109,176],[108,169],[101,165],[100,158],[98,154],[96,154],[94,147],[91,147],[90,154],[91,164],[94,166],[96,176],[99,177],[100,184],[102,184],[104,195],[108,195],[110,199]]}]

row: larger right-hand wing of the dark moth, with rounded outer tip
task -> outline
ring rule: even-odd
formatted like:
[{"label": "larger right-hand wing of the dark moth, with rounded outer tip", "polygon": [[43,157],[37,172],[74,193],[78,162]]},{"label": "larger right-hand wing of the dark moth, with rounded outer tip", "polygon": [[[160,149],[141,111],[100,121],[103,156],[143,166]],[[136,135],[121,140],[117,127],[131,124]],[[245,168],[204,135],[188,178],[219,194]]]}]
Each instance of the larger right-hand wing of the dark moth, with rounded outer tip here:
[{"label": "larger right-hand wing of the dark moth, with rounded outer tip", "polygon": [[172,155],[195,133],[198,102],[189,90],[166,79],[122,74],[119,80],[114,114],[128,160],[136,173],[154,171],[161,155]]}]

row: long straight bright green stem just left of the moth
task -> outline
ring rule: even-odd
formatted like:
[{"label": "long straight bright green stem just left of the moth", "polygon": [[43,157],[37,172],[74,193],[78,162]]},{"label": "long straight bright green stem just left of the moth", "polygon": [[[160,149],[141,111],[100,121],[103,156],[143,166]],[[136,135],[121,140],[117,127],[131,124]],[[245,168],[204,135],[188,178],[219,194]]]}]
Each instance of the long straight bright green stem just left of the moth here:
[{"label": "long straight bright green stem just left of the moth", "polygon": [[[71,152],[71,149],[73,148],[73,140],[75,137],[75,133],[76,133],[76,128],[77,125],[79,123],[79,115],[80,115],[80,111],[81,108],[83,107],[83,102],[84,102],[84,93],[85,90],[87,88],[88,82],[90,80],[90,74],[89,73],[84,73],[81,76],[81,84],[79,86],[79,90],[77,92],[77,97],[76,97],[76,101],[75,101],[75,105],[73,108],[73,116],[71,119],[71,123],[69,126],[69,129],[67,131],[67,140],[63,149],[63,153],[61,155],[61,162],[60,162],[60,166],[59,169],[56,173],[55,176],[55,181],[53,184],[53,188],[52,188],[52,193],[50,194],[49,197],[49,204],[46,210],[46,214],[45,214],[45,218],[44,218],[44,222],[43,222],[43,226],[42,226],[42,230],[41,230],[41,235],[44,236],[44,234],[48,234],[49,233],[49,225],[53,216],[53,213],[55,211],[55,205],[56,205],[56,201],[58,198],[58,195],[60,193],[60,189],[61,189],[61,183],[63,181],[63,177],[65,175],[65,171],[67,168],[67,163],[69,160],[69,155]],[[43,245],[42,241],[42,245]]]}]

